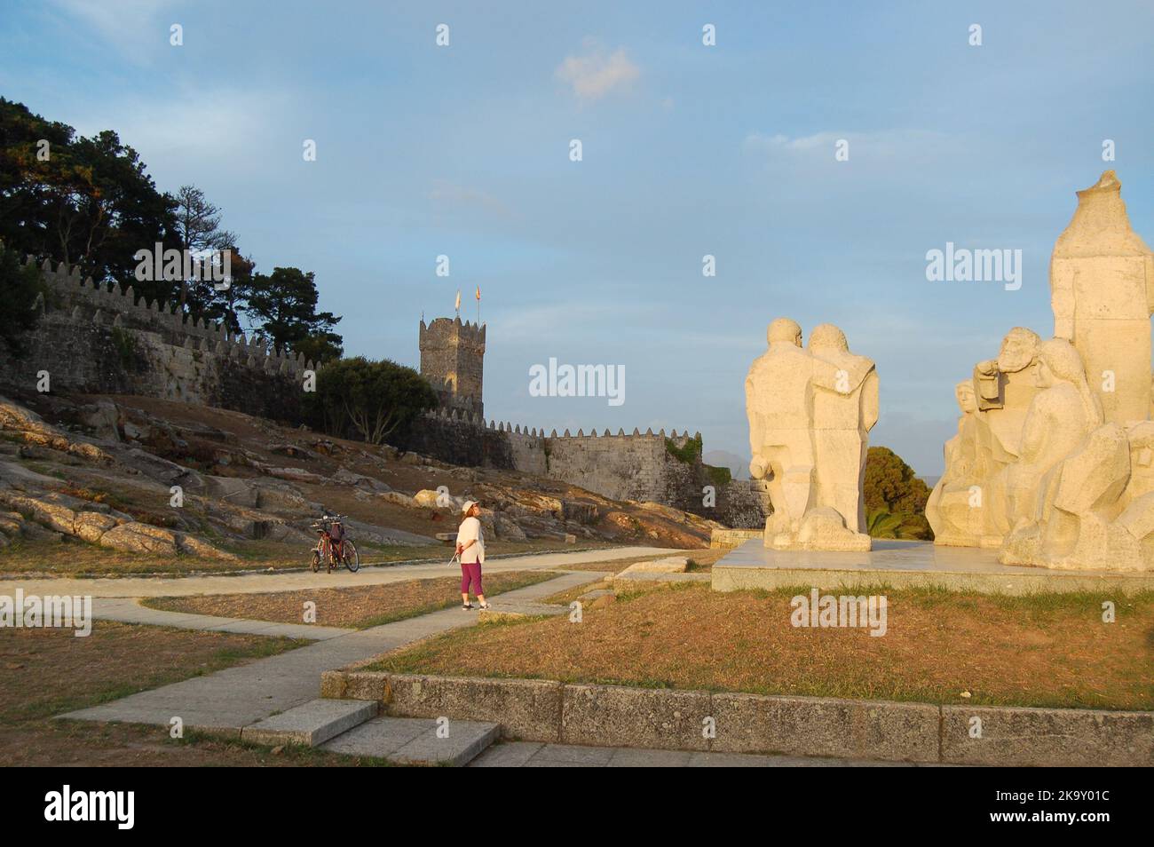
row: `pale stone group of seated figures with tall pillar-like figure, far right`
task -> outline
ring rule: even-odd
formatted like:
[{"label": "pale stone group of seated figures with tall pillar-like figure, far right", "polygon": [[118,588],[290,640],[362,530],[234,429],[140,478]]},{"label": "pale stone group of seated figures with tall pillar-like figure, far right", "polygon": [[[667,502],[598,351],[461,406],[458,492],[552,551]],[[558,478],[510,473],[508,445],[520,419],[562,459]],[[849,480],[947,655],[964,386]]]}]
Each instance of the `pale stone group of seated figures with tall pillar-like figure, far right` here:
[{"label": "pale stone group of seated figures with tall pillar-like figure, far right", "polygon": [[1154,567],[1154,256],[1107,171],[1050,260],[1054,338],[1016,327],[956,392],[926,516],[935,542],[1006,564]]}]

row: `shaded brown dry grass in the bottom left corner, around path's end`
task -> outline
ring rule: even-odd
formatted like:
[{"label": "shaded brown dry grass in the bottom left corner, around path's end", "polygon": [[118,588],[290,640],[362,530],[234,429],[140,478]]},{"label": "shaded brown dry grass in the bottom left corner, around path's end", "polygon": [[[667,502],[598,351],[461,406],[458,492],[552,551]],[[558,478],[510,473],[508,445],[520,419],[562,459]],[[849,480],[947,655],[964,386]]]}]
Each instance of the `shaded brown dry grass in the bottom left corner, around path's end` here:
[{"label": "shaded brown dry grass in the bottom left corner, around path's end", "polygon": [[376,764],[312,749],[270,748],[167,727],[52,715],[275,655],[307,642],[97,621],[92,634],[0,630],[0,760],[6,765],[192,766]]}]

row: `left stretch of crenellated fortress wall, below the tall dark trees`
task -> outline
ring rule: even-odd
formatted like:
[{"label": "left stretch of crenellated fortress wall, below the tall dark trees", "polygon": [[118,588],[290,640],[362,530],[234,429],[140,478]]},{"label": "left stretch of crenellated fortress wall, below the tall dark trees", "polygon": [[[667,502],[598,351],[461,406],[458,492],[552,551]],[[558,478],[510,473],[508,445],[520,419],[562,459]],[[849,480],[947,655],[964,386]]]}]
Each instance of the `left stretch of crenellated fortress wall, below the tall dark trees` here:
[{"label": "left stretch of crenellated fortress wall, below the tall dark trees", "polygon": [[52,390],[144,395],[299,418],[313,362],[190,318],[177,303],[148,302],[130,286],[99,285],[78,268],[45,260],[42,271],[50,295],[24,353],[0,368],[8,384],[33,390],[47,372]]}]

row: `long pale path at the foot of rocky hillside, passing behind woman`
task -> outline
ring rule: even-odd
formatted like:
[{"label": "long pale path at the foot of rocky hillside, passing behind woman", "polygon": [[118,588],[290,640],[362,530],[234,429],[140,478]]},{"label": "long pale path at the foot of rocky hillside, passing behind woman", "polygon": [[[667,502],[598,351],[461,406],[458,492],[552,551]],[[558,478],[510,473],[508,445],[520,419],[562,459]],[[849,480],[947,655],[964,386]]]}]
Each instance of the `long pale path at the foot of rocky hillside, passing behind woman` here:
[{"label": "long pale path at the foot of rocky hillside, passing behind woman", "polygon": [[[381,568],[361,568],[357,574],[346,570],[332,574],[293,571],[291,574],[254,574],[248,576],[202,577],[123,577],[118,579],[5,579],[0,594],[14,594],[23,589],[25,594],[78,594],[82,597],[187,597],[189,594],[260,594],[307,589],[344,589],[357,585],[381,585],[407,579],[460,576],[460,565],[445,561],[424,564],[399,564]],[[661,547],[614,547],[582,553],[539,553],[530,556],[496,559],[485,563],[486,574],[510,570],[564,570],[575,564],[612,562],[638,556],[667,556],[672,550]]]}]

